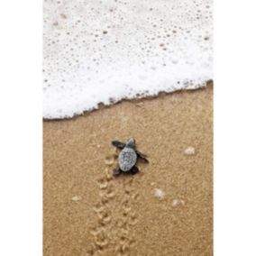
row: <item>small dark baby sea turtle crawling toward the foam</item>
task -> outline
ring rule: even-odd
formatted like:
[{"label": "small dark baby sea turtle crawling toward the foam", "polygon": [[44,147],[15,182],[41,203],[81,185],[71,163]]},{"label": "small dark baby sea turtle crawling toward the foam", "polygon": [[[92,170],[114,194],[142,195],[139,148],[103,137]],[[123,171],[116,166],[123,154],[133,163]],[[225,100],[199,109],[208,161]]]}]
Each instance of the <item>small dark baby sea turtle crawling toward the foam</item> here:
[{"label": "small dark baby sea turtle crawling toward the foam", "polygon": [[122,172],[137,173],[139,169],[136,166],[137,158],[141,158],[145,162],[149,162],[146,156],[136,150],[135,140],[131,138],[127,143],[113,141],[112,144],[122,150],[118,156],[119,169],[114,170],[114,175],[117,176]]}]

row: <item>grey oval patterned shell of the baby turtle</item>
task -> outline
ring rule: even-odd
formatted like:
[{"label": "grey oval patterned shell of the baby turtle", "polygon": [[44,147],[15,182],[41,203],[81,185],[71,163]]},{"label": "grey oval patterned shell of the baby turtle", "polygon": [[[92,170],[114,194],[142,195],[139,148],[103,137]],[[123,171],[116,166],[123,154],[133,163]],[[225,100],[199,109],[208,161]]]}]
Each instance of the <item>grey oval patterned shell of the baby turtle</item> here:
[{"label": "grey oval patterned shell of the baby turtle", "polygon": [[136,152],[131,148],[124,148],[123,151],[120,152],[118,157],[118,163],[120,169],[123,171],[128,171],[133,168],[137,160]]}]

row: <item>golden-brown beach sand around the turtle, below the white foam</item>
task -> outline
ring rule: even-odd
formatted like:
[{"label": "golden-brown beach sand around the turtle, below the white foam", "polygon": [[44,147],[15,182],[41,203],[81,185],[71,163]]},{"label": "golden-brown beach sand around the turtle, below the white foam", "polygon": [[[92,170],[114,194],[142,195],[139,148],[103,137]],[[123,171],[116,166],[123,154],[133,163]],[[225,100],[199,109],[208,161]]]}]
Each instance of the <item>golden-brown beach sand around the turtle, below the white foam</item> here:
[{"label": "golden-brown beach sand around the turtle, below the white foam", "polygon": [[[213,254],[213,87],[43,123],[44,255]],[[113,178],[113,139],[150,163]]]}]

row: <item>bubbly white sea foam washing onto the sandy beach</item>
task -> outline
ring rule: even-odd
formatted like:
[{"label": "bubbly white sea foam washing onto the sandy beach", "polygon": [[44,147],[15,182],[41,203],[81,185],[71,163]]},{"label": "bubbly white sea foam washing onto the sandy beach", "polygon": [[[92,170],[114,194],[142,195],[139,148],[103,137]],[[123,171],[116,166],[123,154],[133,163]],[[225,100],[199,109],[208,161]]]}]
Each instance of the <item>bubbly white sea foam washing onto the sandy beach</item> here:
[{"label": "bubbly white sea foam washing onto the sandy beach", "polygon": [[212,0],[45,0],[43,116],[212,79]]}]

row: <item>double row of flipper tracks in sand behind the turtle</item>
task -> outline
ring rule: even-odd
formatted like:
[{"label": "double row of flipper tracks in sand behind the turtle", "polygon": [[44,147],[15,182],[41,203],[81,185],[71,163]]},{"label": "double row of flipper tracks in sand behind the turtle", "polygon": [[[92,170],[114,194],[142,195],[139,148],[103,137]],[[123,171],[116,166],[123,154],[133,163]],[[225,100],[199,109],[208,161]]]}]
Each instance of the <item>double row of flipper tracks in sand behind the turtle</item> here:
[{"label": "double row of flipper tracks in sand behind the turtle", "polygon": [[[97,180],[99,200],[93,208],[97,224],[90,231],[94,242],[87,255],[113,255],[113,252],[117,256],[132,255],[131,249],[136,244],[133,226],[138,223],[133,206],[139,194],[133,188],[133,176],[114,178],[110,168],[114,162],[107,165],[104,177]],[[116,194],[117,189],[119,195]],[[114,200],[117,197],[122,198],[119,203]]]}]

